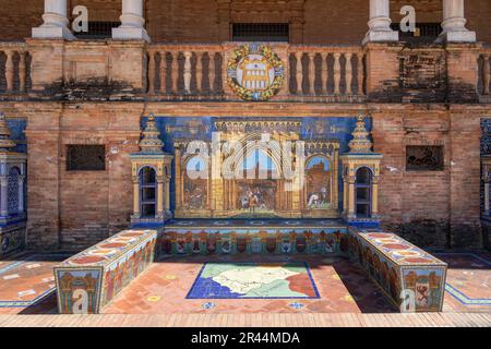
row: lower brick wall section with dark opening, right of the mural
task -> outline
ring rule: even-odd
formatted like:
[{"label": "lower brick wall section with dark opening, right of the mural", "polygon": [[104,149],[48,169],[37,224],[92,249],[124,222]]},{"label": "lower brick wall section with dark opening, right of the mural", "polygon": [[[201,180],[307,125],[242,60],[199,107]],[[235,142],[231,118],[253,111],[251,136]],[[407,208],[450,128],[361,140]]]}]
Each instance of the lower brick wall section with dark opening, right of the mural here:
[{"label": "lower brick wall section with dark opening, right of the mural", "polygon": [[[384,106],[372,116],[375,151],[384,154],[383,224],[420,245],[479,245],[480,116],[436,106]],[[444,170],[406,171],[407,145],[443,146]]]}]

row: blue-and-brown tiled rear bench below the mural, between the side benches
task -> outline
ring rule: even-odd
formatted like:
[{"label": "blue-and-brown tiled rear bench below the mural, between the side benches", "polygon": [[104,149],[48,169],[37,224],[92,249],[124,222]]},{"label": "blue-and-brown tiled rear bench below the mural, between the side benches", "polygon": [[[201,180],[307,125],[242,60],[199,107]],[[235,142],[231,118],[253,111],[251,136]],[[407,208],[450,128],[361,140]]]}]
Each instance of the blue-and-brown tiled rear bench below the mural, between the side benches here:
[{"label": "blue-and-brown tiled rear bench below the mural, between the side benches", "polygon": [[173,220],[163,254],[347,254],[347,228],[328,220]]}]

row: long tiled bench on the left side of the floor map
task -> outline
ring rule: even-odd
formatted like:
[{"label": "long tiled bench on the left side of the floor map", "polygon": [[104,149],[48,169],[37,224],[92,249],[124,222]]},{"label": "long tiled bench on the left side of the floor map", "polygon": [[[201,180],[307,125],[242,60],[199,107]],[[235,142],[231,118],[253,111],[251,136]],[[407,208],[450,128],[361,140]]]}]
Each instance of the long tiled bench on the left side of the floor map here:
[{"label": "long tiled bench on the left side of the floor map", "polygon": [[156,230],[124,230],[55,267],[60,314],[97,314],[153,261]]}]

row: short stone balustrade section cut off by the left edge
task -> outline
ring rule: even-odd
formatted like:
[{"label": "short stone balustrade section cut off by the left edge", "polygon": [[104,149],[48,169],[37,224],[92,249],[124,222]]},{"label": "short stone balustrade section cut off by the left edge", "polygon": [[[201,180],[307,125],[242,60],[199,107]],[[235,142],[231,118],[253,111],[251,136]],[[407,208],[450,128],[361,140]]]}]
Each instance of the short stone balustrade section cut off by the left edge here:
[{"label": "short stone balustrade section cut off by the left edge", "polygon": [[25,93],[31,86],[31,56],[26,45],[0,43],[0,94]]}]

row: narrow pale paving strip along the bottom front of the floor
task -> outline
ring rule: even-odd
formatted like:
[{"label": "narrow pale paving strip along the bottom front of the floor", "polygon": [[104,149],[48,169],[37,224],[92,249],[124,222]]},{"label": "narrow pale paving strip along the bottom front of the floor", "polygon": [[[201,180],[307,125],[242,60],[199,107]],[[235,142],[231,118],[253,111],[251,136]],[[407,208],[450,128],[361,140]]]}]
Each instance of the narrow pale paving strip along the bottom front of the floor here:
[{"label": "narrow pale paving strip along the bottom front of the floor", "polygon": [[0,315],[0,327],[491,327],[491,313]]}]

